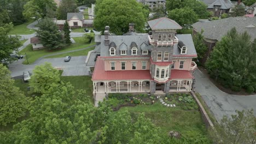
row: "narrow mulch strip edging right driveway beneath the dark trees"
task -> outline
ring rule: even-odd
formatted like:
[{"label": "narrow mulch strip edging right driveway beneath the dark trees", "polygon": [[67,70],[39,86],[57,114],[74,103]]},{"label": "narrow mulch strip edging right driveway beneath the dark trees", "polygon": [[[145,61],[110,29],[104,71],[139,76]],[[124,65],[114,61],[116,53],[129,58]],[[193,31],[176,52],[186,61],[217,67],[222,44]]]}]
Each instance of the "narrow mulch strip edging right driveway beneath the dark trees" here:
[{"label": "narrow mulch strip edging right driveway beneath the dark trees", "polygon": [[254,93],[251,93],[251,94],[248,94],[245,89],[241,89],[240,92],[234,92],[232,91],[230,88],[225,88],[223,87],[222,85],[220,85],[220,83],[218,83],[217,81],[213,80],[210,75],[207,73],[207,70],[203,67],[198,67],[198,69],[203,73],[205,74],[206,77],[208,77],[208,79],[211,80],[211,82],[216,86],[218,87],[221,91],[225,92],[225,93],[228,93],[228,94],[235,94],[235,95],[254,95],[256,94],[255,92]]}]

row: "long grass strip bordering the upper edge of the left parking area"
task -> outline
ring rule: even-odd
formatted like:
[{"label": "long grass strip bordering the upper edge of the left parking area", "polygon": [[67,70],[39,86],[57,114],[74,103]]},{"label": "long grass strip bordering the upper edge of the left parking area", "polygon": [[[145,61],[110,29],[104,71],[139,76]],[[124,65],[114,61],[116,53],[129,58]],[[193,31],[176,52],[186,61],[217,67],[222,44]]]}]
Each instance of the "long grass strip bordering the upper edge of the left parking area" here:
[{"label": "long grass strip bordering the upper edge of the left parking area", "polygon": [[[57,50],[47,50],[47,49],[42,49],[42,50],[37,50],[33,51],[32,45],[26,46],[23,50],[20,51],[20,55],[25,55],[27,54],[28,62],[31,64],[35,62],[38,58],[45,56],[45,55],[50,55],[54,53],[59,53],[59,52],[66,52],[66,51],[71,51],[71,50],[78,50],[78,49],[83,49],[85,47],[88,47],[90,45],[94,45],[95,43],[91,44],[71,44],[69,46],[63,47],[62,49],[57,49]],[[22,64],[27,64],[26,57],[24,58],[24,61]]]}]

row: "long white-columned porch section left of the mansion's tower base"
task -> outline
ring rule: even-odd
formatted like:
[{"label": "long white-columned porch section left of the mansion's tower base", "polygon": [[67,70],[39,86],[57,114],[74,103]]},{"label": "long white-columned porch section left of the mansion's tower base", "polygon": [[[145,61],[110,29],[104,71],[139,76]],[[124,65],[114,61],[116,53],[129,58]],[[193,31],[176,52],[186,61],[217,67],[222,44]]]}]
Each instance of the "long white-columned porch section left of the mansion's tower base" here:
[{"label": "long white-columned porch section left of the mansion's tower base", "polygon": [[94,93],[150,92],[149,80],[94,81]]}]

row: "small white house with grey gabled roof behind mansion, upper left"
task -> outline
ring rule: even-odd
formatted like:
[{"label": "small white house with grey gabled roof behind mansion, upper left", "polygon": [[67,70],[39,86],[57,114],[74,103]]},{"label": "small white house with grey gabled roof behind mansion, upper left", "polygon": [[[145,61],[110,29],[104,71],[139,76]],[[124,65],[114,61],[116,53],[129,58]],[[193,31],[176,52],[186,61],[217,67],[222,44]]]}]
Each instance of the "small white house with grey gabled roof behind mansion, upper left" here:
[{"label": "small white house with grey gabled roof behind mansion, upper left", "polygon": [[67,22],[72,28],[83,27],[84,15],[83,13],[67,13]]}]

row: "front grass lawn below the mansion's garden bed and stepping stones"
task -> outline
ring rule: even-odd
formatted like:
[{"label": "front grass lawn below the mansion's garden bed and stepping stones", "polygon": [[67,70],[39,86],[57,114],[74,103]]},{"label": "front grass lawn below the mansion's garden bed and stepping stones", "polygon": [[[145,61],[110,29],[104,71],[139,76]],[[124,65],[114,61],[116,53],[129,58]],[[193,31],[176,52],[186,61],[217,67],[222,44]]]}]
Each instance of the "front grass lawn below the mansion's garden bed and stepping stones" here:
[{"label": "front grass lawn below the mansion's garden bed and stepping stones", "polygon": [[179,107],[166,107],[160,103],[154,105],[137,105],[135,107],[122,107],[120,111],[129,111],[134,118],[138,113],[144,112],[146,117],[161,128],[162,134],[168,134],[171,130],[187,134],[196,131],[206,134],[207,129],[202,121],[199,110],[182,110]]}]

